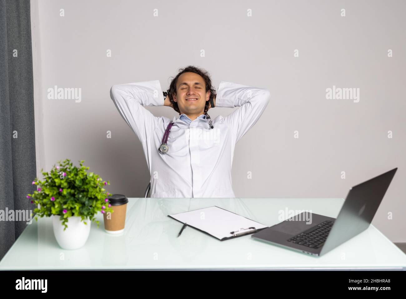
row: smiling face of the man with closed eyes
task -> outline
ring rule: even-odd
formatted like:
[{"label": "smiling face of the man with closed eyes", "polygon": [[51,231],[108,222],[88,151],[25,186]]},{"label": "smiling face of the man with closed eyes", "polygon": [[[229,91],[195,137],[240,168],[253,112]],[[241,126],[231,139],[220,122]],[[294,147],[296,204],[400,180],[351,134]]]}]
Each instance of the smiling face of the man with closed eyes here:
[{"label": "smiling face of the man with closed eyes", "polygon": [[[189,100],[189,99],[196,100]],[[206,101],[210,98],[210,91],[206,93],[206,84],[203,78],[193,72],[186,72],[179,76],[176,82],[176,95],[173,100],[177,102],[180,114],[203,114]]]}]

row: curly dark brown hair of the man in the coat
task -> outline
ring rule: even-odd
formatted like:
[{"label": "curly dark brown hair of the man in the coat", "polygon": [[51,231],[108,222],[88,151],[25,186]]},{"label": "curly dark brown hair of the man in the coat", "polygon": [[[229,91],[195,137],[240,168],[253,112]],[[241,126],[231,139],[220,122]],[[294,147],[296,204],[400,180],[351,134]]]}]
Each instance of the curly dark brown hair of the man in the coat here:
[{"label": "curly dark brown hair of the man in the coat", "polygon": [[177,102],[173,101],[173,94],[176,95],[176,82],[177,82],[177,79],[183,73],[193,72],[193,73],[196,73],[196,74],[200,75],[203,78],[203,80],[205,81],[205,83],[206,83],[206,92],[210,90],[210,98],[209,98],[208,101],[206,101],[205,106],[204,106],[204,112],[206,113],[208,108],[209,108],[210,101],[212,99],[214,99],[214,96],[216,95],[216,89],[214,87],[212,87],[212,79],[210,79],[209,73],[205,69],[195,67],[193,65],[188,65],[187,67],[185,67],[183,69],[181,68],[181,69],[178,70],[178,72],[179,73],[176,75],[176,77],[172,79],[171,85],[169,85],[169,89],[167,90],[169,100],[171,101],[171,103],[173,105],[173,109],[175,109],[175,111],[180,114]]}]

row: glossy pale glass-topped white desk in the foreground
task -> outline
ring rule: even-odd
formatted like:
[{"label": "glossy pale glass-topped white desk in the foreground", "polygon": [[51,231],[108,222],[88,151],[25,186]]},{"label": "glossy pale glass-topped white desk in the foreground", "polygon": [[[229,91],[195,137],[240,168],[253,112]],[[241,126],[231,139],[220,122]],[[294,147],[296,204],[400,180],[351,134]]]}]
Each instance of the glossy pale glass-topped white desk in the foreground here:
[{"label": "glossy pale glass-topped white desk in the foreground", "polygon": [[32,221],[0,261],[0,270],[56,269],[405,269],[406,255],[374,226],[324,256],[305,255],[241,236],[226,241],[167,217],[219,206],[271,226],[278,211],[312,210],[337,217],[343,199],[158,199],[129,198],[125,230],[104,232],[92,223],[84,247],[58,246],[50,218]]}]

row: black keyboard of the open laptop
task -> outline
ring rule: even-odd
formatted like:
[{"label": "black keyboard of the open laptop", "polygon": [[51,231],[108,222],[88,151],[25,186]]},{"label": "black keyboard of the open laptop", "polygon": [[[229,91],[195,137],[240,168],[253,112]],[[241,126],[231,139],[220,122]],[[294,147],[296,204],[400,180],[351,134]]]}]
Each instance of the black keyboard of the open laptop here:
[{"label": "black keyboard of the open laptop", "polygon": [[324,245],[333,224],[333,221],[326,220],[319,225],[313,226],[313,228],[309,228],[301,234],[288,239],[287,241],[310,248],[320,248]]}]

